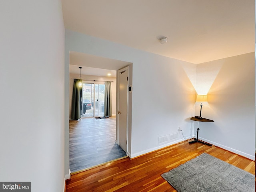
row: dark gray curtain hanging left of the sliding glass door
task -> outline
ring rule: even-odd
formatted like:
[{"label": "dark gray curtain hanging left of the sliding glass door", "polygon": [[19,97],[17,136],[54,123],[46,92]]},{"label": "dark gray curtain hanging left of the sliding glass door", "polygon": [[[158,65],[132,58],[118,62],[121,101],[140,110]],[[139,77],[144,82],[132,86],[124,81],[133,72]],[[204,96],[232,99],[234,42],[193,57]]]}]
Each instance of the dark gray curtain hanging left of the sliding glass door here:
[{"label": "dark gray curtain hanging left of the sliding glass door", "polygon": [[78,87],[79,82],[82,82],[82,80],[74,80],[71,119],[80,119],[82,115],[82,87]]}]

